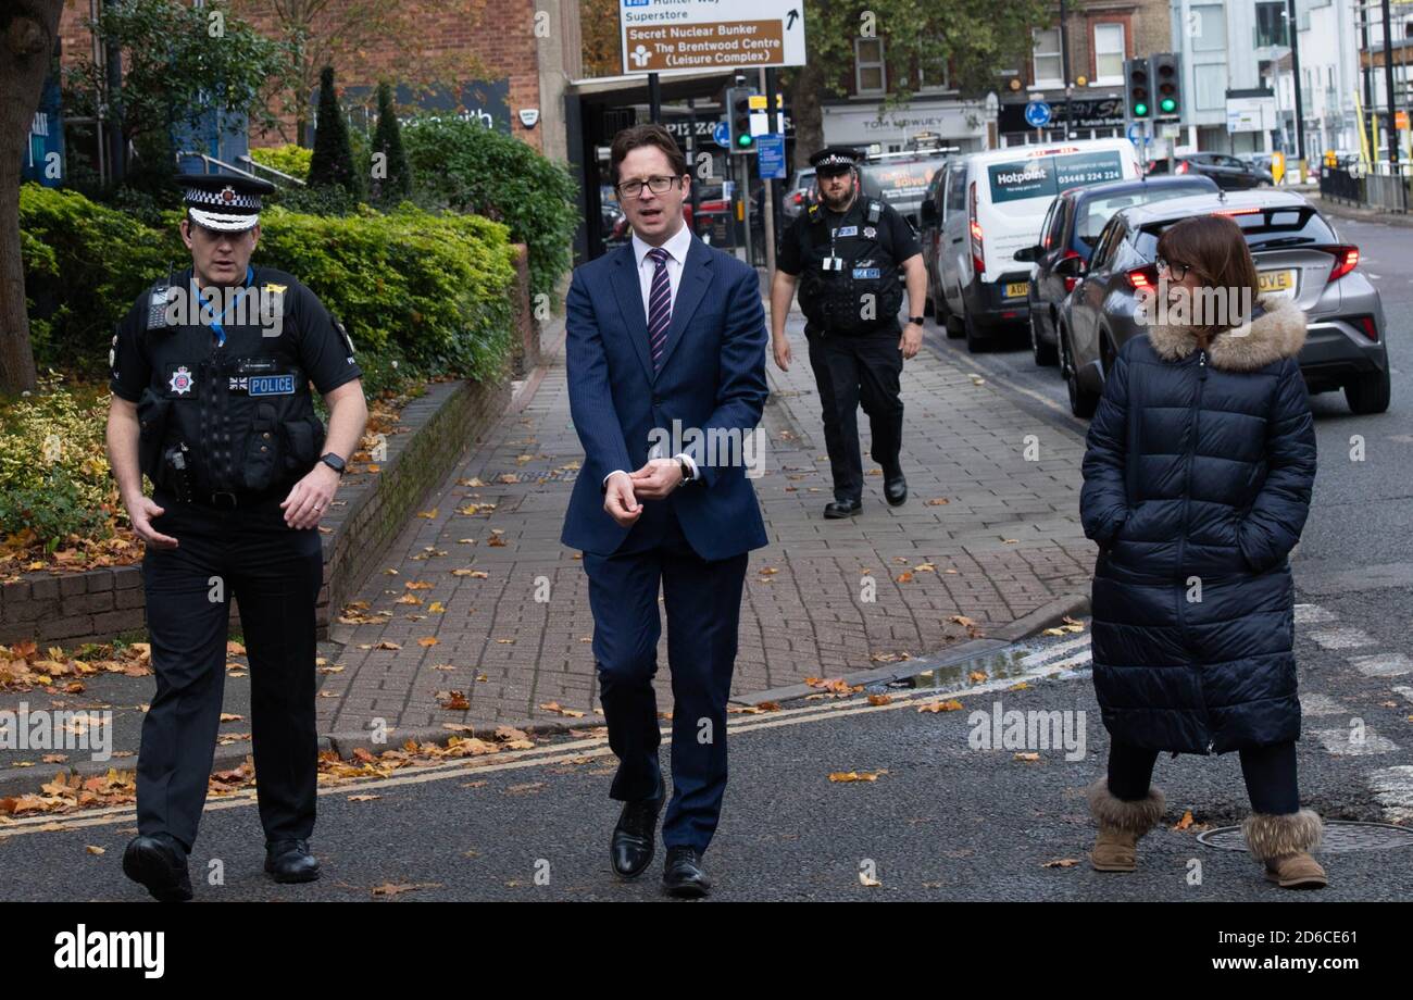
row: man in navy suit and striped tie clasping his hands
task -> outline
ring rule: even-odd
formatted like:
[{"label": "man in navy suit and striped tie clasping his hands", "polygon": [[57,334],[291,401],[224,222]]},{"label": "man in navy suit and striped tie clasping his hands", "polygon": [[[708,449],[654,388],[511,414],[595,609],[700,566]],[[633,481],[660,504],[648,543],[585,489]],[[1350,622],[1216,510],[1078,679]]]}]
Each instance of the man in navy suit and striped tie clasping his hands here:
[{"label": "man in navy suit and striped tie clasping his hands", "polygon": [[593,658],[623,802],[613,870],[653,860],[666,798],[658,764],[658,588],[673,671],[673,798],[663,884],[711,890],[701,867],[726,790],[726,699],[746,554],[766,545],[746,479],[766,395],[766,318],[755,268],[682,220],[687,161],[661,126],[612,145],[629,246],[574,271],[567,301],[569,410],[584,466],[562,541],[584,551]]}]

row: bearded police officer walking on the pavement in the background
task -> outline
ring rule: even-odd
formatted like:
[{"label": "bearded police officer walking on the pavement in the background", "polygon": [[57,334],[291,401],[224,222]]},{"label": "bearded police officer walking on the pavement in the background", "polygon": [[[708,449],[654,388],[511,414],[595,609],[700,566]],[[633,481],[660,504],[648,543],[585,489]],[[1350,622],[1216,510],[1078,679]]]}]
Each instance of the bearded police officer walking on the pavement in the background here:
[{"label": "bearded police officer walking on the pavement in the background", "polygon": [[[893,208],[858,191],[858,153],[829,145],[812,157],[820,201],[781,239],[770,285],[770,332],[776,364],[790,367],[786,316],[800,285],[810,366],[820,390],[824,442],[834,473],[827,518],[863,508],[858,407],[869,415],[872,456],[883,470],[883,496],[907,500],[903,476],[903,360],[923,345],[927,270],[911,226]],[[897,312],[907,281],[909,321]]]}]

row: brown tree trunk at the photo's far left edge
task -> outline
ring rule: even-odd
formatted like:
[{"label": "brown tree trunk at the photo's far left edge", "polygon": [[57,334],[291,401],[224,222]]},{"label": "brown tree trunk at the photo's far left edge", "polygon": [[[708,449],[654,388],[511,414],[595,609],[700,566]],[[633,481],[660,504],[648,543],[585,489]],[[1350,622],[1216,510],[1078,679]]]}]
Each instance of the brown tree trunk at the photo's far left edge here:
[{"label": "brown tree trunk at the photo's far left edge", "polygon": [[20,260],[20,164],[54,56],[64,0],[14,0],[0,14],[0,391],[34,388]]}]

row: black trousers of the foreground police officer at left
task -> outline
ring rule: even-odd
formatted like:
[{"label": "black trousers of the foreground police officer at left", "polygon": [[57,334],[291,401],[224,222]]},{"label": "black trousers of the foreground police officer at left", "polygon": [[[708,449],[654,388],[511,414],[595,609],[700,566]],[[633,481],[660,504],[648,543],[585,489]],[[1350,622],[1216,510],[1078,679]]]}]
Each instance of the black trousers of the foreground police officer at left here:
[{"label": "black trousers of the foreground police officer at left", "polygon": [[283,499],[222,510],[153,497],[164,510],[153,528],[178,545],[148,545],[143,558],[157,695],[137,754],[137,831],[170,833],[188,852],[216,753],[232,597],[250,660],[260,823],[271,842],[314,832],[314,606],[324,554],[317,528],[285,525]]}]

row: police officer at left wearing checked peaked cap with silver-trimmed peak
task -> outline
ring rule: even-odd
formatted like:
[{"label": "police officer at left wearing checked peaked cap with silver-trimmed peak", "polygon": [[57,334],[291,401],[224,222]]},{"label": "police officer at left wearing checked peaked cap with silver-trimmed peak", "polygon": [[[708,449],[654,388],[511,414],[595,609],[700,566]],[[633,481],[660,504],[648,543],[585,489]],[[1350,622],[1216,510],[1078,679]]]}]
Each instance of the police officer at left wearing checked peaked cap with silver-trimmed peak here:
[{"label": "police officer at left wearing checked peaked cap with silver-trimmed peak", "polygon": [[[191,898],[187,856],[220,723],[230,600],[250,658],[250,722],[276,881],[319,874],[314,831],[318,524],[367,421],[353,343],[291,275],[253,267],[264,181],[184,175],[191,267],[144,291],[109,356],[107,452],[133,530],[157,694],[137,757],[123,871]],[[322,394],[329,427],[314,412]],[[153,496],[143,494],[143,475]]]}]

